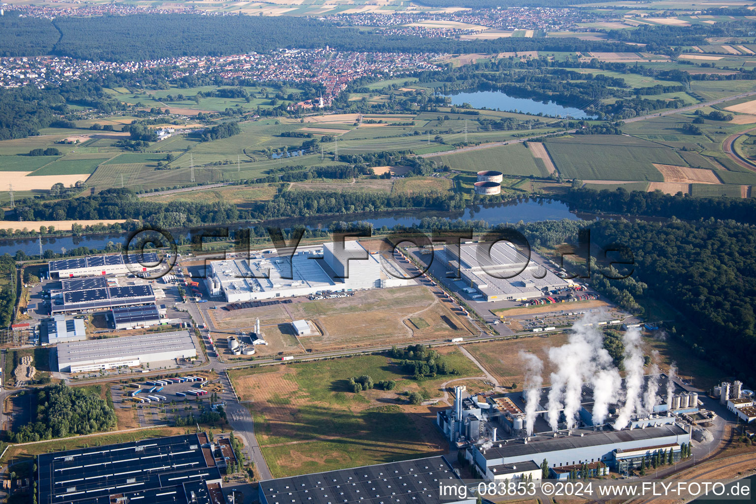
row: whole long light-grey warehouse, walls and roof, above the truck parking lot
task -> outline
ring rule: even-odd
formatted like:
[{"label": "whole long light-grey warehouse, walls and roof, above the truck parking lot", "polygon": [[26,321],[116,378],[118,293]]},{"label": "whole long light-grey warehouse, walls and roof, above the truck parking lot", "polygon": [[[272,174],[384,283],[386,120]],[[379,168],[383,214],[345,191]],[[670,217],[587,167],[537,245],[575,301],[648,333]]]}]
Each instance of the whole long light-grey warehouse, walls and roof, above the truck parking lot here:
[{"label": "whole long light-grey warehouse, walls and roof, above the truck parking lot", "polygon": [[86,373],[194,357],[197,348],[188,331],[91,339],[57,346],[61,373]]}]

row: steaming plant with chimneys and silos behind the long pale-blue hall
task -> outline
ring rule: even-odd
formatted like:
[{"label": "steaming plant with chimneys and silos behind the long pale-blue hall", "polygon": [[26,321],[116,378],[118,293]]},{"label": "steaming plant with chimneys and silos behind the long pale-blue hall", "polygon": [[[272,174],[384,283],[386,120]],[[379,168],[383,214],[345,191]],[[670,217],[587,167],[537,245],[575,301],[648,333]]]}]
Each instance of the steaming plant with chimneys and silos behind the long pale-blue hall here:
[{"label": "steaming plant with chimneys and silos behind the long pale-blue hall", "polygon": [[[672,394],[668,404],[667,385],[668,376],[659,374],[646,376],[644,388],[654,379],[658,384],[655,406],[647,416],[635,416],[630,420],[629,428],[647,428],[649,426],[671,425],[677,422],[677,417],[687,413],[699,412],[699,397],[695,392],[687,393],[674,381],[671,382]],[[624,382],[623,382],[624,385]],[[624,387],[623,387],[624,390]],[[550,387],[541,389],[538,404],[534,407],[533,432],[547,433],[553,431],[547,422],[548,395]],[[525,391],[510,394],[470,396],[463,387],[454,388],[454,407],[436,413],[436,423],[444,432],[451,444],[463,447],[479,441],[500,441],[525,437]],[[577,410],[578,428],[612,428],[617,418],[622,397],[618,395],[613,404],[609,404],[609,414],[599,423],[593,419],[593,385],[584,384],[581,390],[580,407]],[[562,418],[559,425],[565,425],[563,417],[564,407],[559,408]],[[612,413],[614,412],[614,413]],[[540,461],[539,461],[540,462]]]}]

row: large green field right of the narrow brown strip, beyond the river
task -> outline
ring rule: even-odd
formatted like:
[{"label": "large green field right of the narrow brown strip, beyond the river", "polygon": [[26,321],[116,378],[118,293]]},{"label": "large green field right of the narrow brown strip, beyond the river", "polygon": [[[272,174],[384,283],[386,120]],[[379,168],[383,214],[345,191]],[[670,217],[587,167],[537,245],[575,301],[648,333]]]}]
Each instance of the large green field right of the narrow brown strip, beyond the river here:
[{"label": "large green field right of the narrow brown strip, beyond the river", "polygon": [[544,142],[565,178],[607,181],[664,181],[651,164],[684,165],[674,150],[618,135],[587,135]]}]

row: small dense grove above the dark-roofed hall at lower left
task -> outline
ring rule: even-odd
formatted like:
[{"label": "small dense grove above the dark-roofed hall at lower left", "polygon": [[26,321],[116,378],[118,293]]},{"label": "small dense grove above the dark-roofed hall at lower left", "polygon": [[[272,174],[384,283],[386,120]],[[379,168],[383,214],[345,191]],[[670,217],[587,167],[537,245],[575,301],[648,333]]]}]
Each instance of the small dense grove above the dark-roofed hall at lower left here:
[{"label": "small dense grove above the dark-roofed hall at lower left", "polygon": [[43,439],[92,434],[116,427],[116,413],[98,394],[84,388],[71,388],[64,382],[48,385],[36,392],[36,415],[9,441],[26,443]]}]

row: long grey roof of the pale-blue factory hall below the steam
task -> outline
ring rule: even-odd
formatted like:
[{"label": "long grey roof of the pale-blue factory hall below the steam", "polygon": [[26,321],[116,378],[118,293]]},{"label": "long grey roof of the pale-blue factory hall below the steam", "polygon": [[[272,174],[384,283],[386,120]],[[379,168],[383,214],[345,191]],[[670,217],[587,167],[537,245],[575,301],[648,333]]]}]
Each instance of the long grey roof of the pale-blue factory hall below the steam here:
[{"label": "long grey roof of the pale-blue factory hall below the steam", "polygon": [[[573,448],[587,448],[606,445],[611,447],[627,441],[653,440],[664,436],[677,436],[686,434],[679,425],[661,425],[658,427],[634,428],[622,431],[590,431],[574,429],[572,435],[560,434],[559,438],[551,436],[531,437],[528,444],[521,440],[500,443],[501,447],[488,448],[483,453],[487,460],[520,457],[523,459],[538,453],[547,453],[559,450],[572,450]],[[498,444],[497,444],[498,445]],[[481,448],[478,445],[477,448]]]}]

